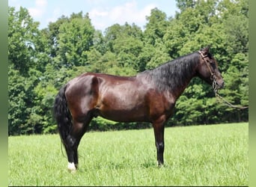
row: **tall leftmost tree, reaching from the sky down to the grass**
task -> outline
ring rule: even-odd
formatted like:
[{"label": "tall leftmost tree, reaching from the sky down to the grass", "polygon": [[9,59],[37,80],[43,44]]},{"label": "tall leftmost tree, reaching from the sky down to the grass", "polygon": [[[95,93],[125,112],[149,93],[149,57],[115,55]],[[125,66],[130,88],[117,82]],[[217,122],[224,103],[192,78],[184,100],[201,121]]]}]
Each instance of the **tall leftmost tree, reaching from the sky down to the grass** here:
[{"label": "tall leftmost tree, reaching from the sky down to the grass", "polygon": [[[33,70],[37,64],[40,47],[37,46],[40,31],[28,13],[20,7],[15,11],[9,7],[8,22],[8,127],[9,134],[33,133],[34,126],[28,124],[31,108],[34,105],[33,88],[38,83],[40,73]],[[40,54],[40,53],[38,53]]]}]

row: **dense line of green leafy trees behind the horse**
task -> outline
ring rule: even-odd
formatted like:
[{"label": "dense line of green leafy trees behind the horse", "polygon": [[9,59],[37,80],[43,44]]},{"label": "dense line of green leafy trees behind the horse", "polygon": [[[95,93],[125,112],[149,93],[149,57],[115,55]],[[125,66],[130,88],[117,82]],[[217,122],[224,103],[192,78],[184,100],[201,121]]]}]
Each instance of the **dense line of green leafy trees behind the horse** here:
[{"label": "dense line of green leafy trees behind the horse", "polygon": [[[8,133],[55,133],[52,104],[58,90],[85,72],[134,76],[210,45],[234,105],[249,103],[249,2],[176,0],[172,17],[154,8],[143,29],[115,24],[98,31],[88,13],[72,13],[39,29],[28,10],[8,8]],[[192,79],[166,126],[248,121],[248,109],[218,102],[213,88]],[[89,129],[139,129],[97,117]]]}]

